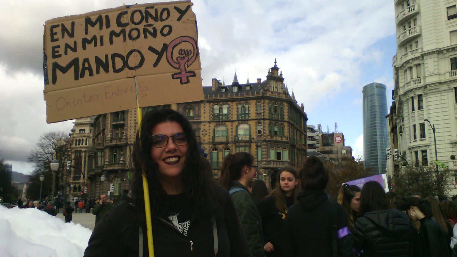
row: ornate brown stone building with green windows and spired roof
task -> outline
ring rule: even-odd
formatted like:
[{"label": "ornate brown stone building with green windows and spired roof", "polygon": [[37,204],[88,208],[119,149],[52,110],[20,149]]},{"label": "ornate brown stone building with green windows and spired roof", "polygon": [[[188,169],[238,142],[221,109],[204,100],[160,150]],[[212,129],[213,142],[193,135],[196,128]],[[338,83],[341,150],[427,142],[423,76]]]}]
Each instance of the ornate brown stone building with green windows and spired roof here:
[{"label": "ornate brown stone building with green windows and spired roof", "polygon": [[[250,83],[248,80],[240,84],[235,74],[230,86],[213,79],[212,86],[203,87],[203,93],[203,101],[143,107],[142,111],[169,107],[186,116],[202,149],[208,154],[215,177],[220,174],[223,158],[238,151],[254,156],[260,170],[259,178],[267,185],[269,176],[265,175],[271,171],[287,165],[300,166],[305,160],[308,118],[303,104],[298,106],[293,92],[292,96],[289,94],[276,61],[264,81],[257,79]],[[87,150],[81,153],[89,197],[111,191],[111,198],[115,198],[123,189],[128,189],[136,115],[136,110],[132,109],[93,119]],[[75,133],[79,129],[76,126],[75,122],[73,140],[79,137]],[[79,155],[76,154],[78,147],[74,146],[72,155]],[[78,189],[76,187],[77,192]]]}]

